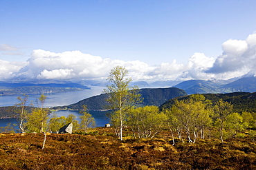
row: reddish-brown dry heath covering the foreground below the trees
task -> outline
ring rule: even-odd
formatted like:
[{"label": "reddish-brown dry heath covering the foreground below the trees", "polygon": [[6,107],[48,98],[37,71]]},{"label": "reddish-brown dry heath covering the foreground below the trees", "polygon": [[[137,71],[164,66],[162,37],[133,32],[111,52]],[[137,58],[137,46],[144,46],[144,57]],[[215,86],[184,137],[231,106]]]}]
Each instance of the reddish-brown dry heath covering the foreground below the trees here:
[{"label": "reddish-brown dry heath covering the foreground below the trees", "polygon": [[[127,132],[118,140],[111,128],[89,135],[0,134],[0,169],[256,169],[256,145],[250,138],[172,140],[134,139]],[[160,138],[161,137],[161,138]]]}]

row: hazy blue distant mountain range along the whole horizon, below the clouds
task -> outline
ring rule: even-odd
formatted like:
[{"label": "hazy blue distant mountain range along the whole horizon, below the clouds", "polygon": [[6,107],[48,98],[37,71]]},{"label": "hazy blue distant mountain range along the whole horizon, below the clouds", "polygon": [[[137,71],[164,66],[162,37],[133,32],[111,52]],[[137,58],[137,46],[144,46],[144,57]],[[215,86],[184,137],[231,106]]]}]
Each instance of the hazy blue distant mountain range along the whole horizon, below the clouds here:
[{"label": "hazy blue distant mountain range along the whole horizon, below the clouds", "polygon": [[[256,92],[255,72],[232,78],[230,80],[190,80],[190,81],[155,81],[147,83],[146,81],[131,82],[131,86],[139,88],[155,87],[176,87],[185,90],[188,94],[209,94],[209,93],[231,93],[231,92]],[[12,94],[40,94],[70,92],[75,90],[89,89],[88,86],[106,87],[109,85],[106,81],[79,80],[79,81],[48,81],[36,83],[35,81],[23,81],[6,83],[0,82],[0,96]]]}]

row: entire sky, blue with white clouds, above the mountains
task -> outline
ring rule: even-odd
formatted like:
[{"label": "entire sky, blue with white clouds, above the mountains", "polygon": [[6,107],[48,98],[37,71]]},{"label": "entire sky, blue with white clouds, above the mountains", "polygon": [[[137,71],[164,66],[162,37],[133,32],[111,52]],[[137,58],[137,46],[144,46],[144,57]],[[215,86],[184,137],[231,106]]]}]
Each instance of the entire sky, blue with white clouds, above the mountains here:
[{"label": "entire sky, blue with white clouds, above the mountains", "polygon": [[0,0],[0,6],[0,81],[105,80],[116,65],[134,81],[255,72],[255,0]]}]

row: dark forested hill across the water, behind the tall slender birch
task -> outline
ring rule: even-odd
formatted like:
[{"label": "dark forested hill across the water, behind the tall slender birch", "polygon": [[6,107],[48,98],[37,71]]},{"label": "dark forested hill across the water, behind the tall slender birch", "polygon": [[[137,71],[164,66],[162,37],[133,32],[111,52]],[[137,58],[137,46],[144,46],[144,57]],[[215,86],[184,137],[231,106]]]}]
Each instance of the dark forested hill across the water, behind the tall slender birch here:
[{"label": "dark forested hill across the water, behind the tall slender birch", "polygon": [[[160,106],[161,104],[165,103],[165,101],[170,100],[171,98],[187,95],[187,93],[183,89],[178,89],[175,87],[140,89],[139,93],[141,94],[141,97],[144,99],[143,102],[140,103],[140,106]],[[107,105],[109,105],[106,101],[107,97],[107,94],[100,94],[98,96],[93,96],[91,98],[80,100],[79,102],[72,105],[53,107],[53,109],[80,110],[82,109],[82,105],[86,105],[87,109],[89,110],[104,110],[107,108]]]}]

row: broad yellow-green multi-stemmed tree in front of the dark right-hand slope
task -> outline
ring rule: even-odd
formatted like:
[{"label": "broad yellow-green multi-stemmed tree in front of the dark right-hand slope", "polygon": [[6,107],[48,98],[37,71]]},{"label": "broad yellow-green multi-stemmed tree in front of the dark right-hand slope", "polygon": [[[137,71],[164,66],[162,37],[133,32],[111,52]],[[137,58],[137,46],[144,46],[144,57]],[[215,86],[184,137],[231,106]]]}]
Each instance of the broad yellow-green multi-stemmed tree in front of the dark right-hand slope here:
[{"label": "broad yellow-green multi-stemmed tree in front of the dark right-hand slope", "polygon": [[[211,126],[210,104],[210,101],[205,100],[201,94],[194,94],[187,100],[176,100],[171,111],[167,111],[169,120],[174,123],[173,125],[169,123],[169,127],[177,130],[184,129],[188,141],[195,142],[199,131],[203,133],[204,128]],[[194,134],[194,141],[191,139],[192,134]]]}]

